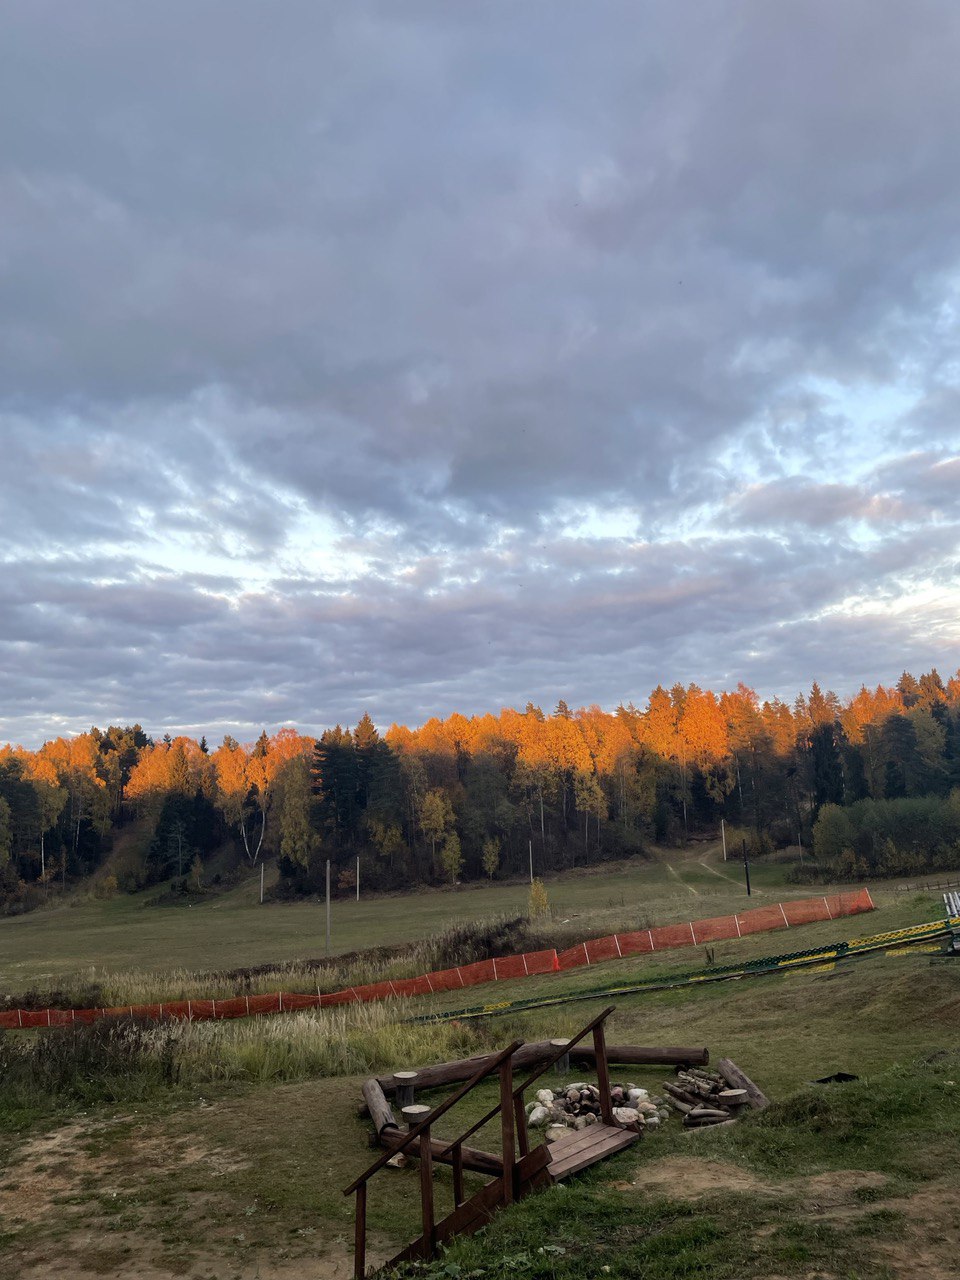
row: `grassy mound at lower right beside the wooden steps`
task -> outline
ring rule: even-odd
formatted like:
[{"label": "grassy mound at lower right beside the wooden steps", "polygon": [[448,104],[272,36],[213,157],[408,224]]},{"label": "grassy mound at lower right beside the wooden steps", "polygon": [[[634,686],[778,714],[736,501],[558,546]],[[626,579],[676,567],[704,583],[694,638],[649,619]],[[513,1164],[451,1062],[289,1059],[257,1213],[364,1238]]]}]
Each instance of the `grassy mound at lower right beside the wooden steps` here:
[{"label": "grassy mound at lower right beside the wooden steps", "polygon": [[[659,1156],[689,1158],[699,1149],[714,1162],[751,1170],[758,1176],[749,1193],[731,1193],[722,1180],[695,1201],[652,1194],[643,1178],[634,1189],[630,1179],[653,1156],[654,1142],[645,1140],[562,1190],[503,1212],[481,1235],[454,1242],[417,1272],[436,1280],[517,1274],[532,1280],[588,1274],[893,1280],[905,1272],[872,1245],[899,1243],[911,1225],[920,1233],[931,1225],[911,1224],[897,1206],[924,1181],[948,1174],[960,1140],[956,1037],[951,1052],[888,1066],[859,1083],[808,1085],[733,1129],[657,1135]],[[864,1170],[883,1178],[861,1185],[855,1175]],[[837,1174],[829,1183],[832,1215],[815,1203],[823,1184],[810,1187],[826,1171]],[[891,1198],[893,1204],[877,1207]],[[943,1212],[948,1217],[950,1207]]]}]

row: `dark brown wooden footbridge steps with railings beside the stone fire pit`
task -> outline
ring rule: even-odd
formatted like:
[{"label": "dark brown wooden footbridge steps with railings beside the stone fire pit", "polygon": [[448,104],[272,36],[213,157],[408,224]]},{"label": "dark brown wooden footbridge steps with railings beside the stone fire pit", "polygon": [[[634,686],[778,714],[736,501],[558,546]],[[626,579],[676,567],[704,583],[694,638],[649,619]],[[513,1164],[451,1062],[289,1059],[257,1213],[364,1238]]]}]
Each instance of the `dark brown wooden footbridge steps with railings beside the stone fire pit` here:
[{"label": "dark brown wooden footbridge steps with railings beside the stone fire pit", "polygon": [[[366,1198],[367,1183],[378,1174],[398,1152],[415,1156],[420,1160],[420,1235],[402,1249],[388,1266],[399,1262],[426,1261],[433,1258],[440,1244],[454,1235],[470,1235],[479,1231],[494,1216],[503,1204],[509,1204],[516,1199],[522,1199],[531,1192],[543,1187],[549,1187],[571,1174],[576,1174],[589,1165],[612,1156],[625,1147],[630,1147],[639,1138],[639,1134],[630,1129],[621,1129],[613,1121],[613,1106],[611,1103],[611,1082],[607,1062],[607,1047],[604,1039],[604,1021],[613,1012],[613,1007],[604,1009],[593,1021],[571,1041],[562,1041],[545,1060],[538,1064],[538,1069],[521,1084],[513,1083],[513,1056],[524,1044],[524,1041],[515,1041],[499,1053],[477,1060],[477,1069],[445,1102],[429,1111],[419,1124],[403,1133],[392,1120],[387,1120],[381,1129],[380,1140],[387,1147],[374,1164],[355,1179],[343,1190],[344,1196],[356,1196],[356,1226],[355,1226],[355,1276],[364,1280],[366,1268]],[[596,1062],[596,1079],[600,1092],[600,1123],[586,1129],[572,1130],[570,1134],[554,1143],[541,1143],[531,1149],[530,1137],[526,1125],[526,1106],[524,1094],[540,1076],[554,1066],[562,1057],[586,1036],[593,1033],[594,1055]],[[489,1076],[499,1076],[499,1100],[485,1115],[465,1129],[458,1138],[452,1140],[438,1139],[431,1135],[431,1129],[453,1106],[472,1092]],[[372,1108],[371,1108],[372,1110]],[[388,1112],[389,1114],[389,1112]],[[466,1146],[479,1129],[489,1124],[499,1115],[500,1119],[500,1155],[495,1156],[485,1151],[475,1151]],[[376,1116],[374,1117],[376,1123]],[[434,1206],[434,1162],[448,1164],[453,1169],[453,1210],[436,1221]],[[463,1188],[463,1171],[493,1174],[492,1181],[480,1188],[479,1192],[467,1197]]]}]

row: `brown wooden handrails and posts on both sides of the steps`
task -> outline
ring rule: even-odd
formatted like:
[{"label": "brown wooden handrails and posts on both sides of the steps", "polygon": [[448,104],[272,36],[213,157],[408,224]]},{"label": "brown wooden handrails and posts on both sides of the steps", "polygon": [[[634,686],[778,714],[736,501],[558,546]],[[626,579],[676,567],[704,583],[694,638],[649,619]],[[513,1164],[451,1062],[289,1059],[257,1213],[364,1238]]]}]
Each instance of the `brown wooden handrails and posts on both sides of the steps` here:
[{"label": "brown wooden handrails and posts on both sides of the steps", "polygon": [[[564,1055],[570,1053],[570,1050],[579,1044],[584,1037],[593,1032],[594,1038],[594,1051],[596,1056],[596,1078],[600,1091],[600,1115],[605,1124],[613,1123],[613,1107],[611,1103],[611,1084],[609,1084],[609,1071],[607,1068],[607,1047],[604,1039],[604,1021],[613,1012],[613,1006],[604,1009],[602,1014],[598,1014],[593,1021],[588,1023],[582,1030],[580,1030],[572,1039],[563,1041],[557,1046],[554,1053],[550,1053],[538,1069],[529,1075],[522,1084],[513,1087],[513,1065],[512,1059],[516,1051],[522,1046],[524,1041],[513,1041],[512,1044],[502,1050],[499,1053],[492,1053],[483,1059],[477,1070],[470,1076],[445,1102],[442,1102],[438,1107],[434,1107],[424,1119],[413,1125],[410,1132],[403,1135],[402,1139],[396,1137],[390,1138],[390,1147],[384,1151],[370,1167],[356,1178],[349,1187],[344,1187],[343,1194],[352,1196],[356,1194],[356,1221],[355,1221],[355,1256],[353,1256],[353,1274],[356,1280],[364,1280],[366,1268],[366,1203],[367,1203],[367,1183],[379,1172],[390,1160],[393,1160],[399,1152],[407,1151],[411,1147],[416,1147],[416,1155],[420,1158],[420,1207],[421,1207],[421,1236],[410,1249],[420,1248],[420,1256],[433,1257],[436,1243],[436,1216],[434,1207],[434,1185],[433,1185],[433,1166],[434,1160],[443,1160],[444,1162],[449,1160],[453,1169],[453,1213],[449,1219],[444,1220],[443,1228],[449,1228],[449,1233],[456,1230],[463,1230],[468,1221],[474,1221],[471,1215],[470,1204],[466,1202],[463,1192],[463,1144],[467,1138],[471,1138],[479,1129],[489,1124],[497,1115],[500,1116],[500,1144],[502,1144],[502,1167],[498,1178],[489,1184],[484,1192],[479,1193],[475,1199],[484,1199],[486,1208],[493,1208],[495,1204],[509,1204],[515,1197],[524,1193],[524,1188],[530,1189],[531,1176],[539,1174],[547,1165],[547,1152],[544,1148],[543,1157],[530,1155],[530,1137],[527,1133],[526,1124],[526,1110],[524,1105],[524,1093],[530,1088],[540,1076],[556,1065]],[[474,1121],[468,1129],[465,1129],[457,1138],[448,1142],[439,1151],[435,1149],[434,1139],[431,1138],[431,1128],[435,1123],[444,1116],[451,1107],[456,1106],[462,1098],[467,1096],[472,1089],[477,1087],[488,1076],[498,1073],[499,1075],[499,1098],[497,1103],[490,1107],[479,1120]],[[517,1146],[520,1147],[520,1162],[517,1162]],[[518,1167],[520,1165],[520,1167]],[[529,1171],[527,1171],[529,1170]],[[486,1194],[485,1193],[493,1193]],[[472,1202],[471,1202],[472,1203]],[[460,1225],[461,1217],[458,1211],[462,1208],[462,1222]],[[470,1229],[476,1229],[475,1226]],[[444,1235],[445,1238],[445,1235]],[[406,1251],[408,1252],[408,1251]]]}]

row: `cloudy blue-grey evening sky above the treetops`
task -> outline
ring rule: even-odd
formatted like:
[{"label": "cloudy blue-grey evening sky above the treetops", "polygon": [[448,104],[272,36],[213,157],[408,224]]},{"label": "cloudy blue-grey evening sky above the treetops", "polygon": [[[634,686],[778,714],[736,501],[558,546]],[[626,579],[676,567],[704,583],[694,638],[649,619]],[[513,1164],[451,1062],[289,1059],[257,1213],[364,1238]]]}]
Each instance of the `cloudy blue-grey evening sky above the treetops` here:
[{"label": "cloudy blue-grey evening sky above the treetops", "polygon": [[5,0],[0,740],[960,666],[955,0]]}]

